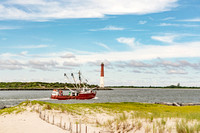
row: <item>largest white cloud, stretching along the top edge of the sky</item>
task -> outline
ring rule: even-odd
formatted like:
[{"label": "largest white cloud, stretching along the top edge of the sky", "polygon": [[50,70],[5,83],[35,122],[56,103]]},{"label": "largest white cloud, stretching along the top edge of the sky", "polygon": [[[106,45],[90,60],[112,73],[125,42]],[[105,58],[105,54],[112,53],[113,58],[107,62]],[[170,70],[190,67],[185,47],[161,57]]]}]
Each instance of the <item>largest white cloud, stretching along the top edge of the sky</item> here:
[{"label": "largest white cloud, stretching along the top edge of the sky", "polygon": [[7,0],[0,2],[0,19],[46,21],[62,18],[102,18],[105,15],[149,14],[169,11],[178,6],[177,1]]}]

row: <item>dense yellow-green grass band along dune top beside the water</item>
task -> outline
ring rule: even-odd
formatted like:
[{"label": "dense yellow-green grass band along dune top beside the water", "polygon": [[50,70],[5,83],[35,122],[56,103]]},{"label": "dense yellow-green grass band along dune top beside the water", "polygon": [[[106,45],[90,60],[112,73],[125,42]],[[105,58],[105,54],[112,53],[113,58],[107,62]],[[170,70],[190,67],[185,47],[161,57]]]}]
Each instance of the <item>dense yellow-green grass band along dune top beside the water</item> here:
[{"label": "dense yellow-green grass band along dune top beside the water", "polygon": [[[58,104],[48,103],[43,101],[25,101],[20,105],[35,105],[43,106],[43,110],[61,110],[72,114],[81,115],[83,113],[122,113],[122,118],[125,119],[123,112],[133,112],[133,118],[145,118],[152,121],[155,118],[185,118],[187,120],[200,120],[200,106],[167,106],[161,104],[150,103],[76,103],[76,104]],[[163,123],[164,123],[164,119]]]}]

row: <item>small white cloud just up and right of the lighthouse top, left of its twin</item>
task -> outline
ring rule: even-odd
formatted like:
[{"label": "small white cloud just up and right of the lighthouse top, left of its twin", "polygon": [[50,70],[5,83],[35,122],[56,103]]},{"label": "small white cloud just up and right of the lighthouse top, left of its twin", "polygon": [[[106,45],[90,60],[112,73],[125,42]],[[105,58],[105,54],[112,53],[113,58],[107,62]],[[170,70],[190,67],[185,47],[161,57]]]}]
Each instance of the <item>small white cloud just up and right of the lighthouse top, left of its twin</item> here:
[{"label": "small white cloud just up and right of the lighthouse top, left of its twin", "polygon": [[134,48],[135,46],[140,45],[140,43],[137,42],[134,37],[133,38],[120,37],[120,38],[117,38],[117,41],[119,43],[127,44],[131,48]]}]

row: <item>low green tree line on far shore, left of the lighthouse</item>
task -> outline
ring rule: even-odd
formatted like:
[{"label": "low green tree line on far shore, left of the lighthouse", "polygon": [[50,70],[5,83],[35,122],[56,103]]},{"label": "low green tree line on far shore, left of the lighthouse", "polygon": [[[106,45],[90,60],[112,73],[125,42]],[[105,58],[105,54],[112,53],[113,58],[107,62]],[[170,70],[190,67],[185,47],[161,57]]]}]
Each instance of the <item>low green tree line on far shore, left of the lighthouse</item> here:
[{"label": "low green tree line on far shore, left of the lighthouse", "polygon": [[[88,85],[94,88],[97,85]],[[71,83],[46,83],[46,82],[0,82],[0,89],[54,89],[54,88],[73,88]]]}]

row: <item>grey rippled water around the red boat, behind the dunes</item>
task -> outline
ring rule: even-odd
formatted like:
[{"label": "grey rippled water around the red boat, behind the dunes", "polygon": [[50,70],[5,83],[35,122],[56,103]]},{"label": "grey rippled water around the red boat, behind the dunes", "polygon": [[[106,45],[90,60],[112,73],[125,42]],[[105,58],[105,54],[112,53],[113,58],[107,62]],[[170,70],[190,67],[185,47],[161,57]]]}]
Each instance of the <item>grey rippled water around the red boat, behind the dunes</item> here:
[{"label": "grey rippled water around the red boat, behind the dunes", "polygon": [[[68,91],[64,91],[68,94]],[[0,91],[0,106],[17,105],[26,100],[52,103],[105,103],[105,102],[180,102],[200,103],[198,89],[114,89],[97,91],[91,100],[52,100],[51,91]]]}]

